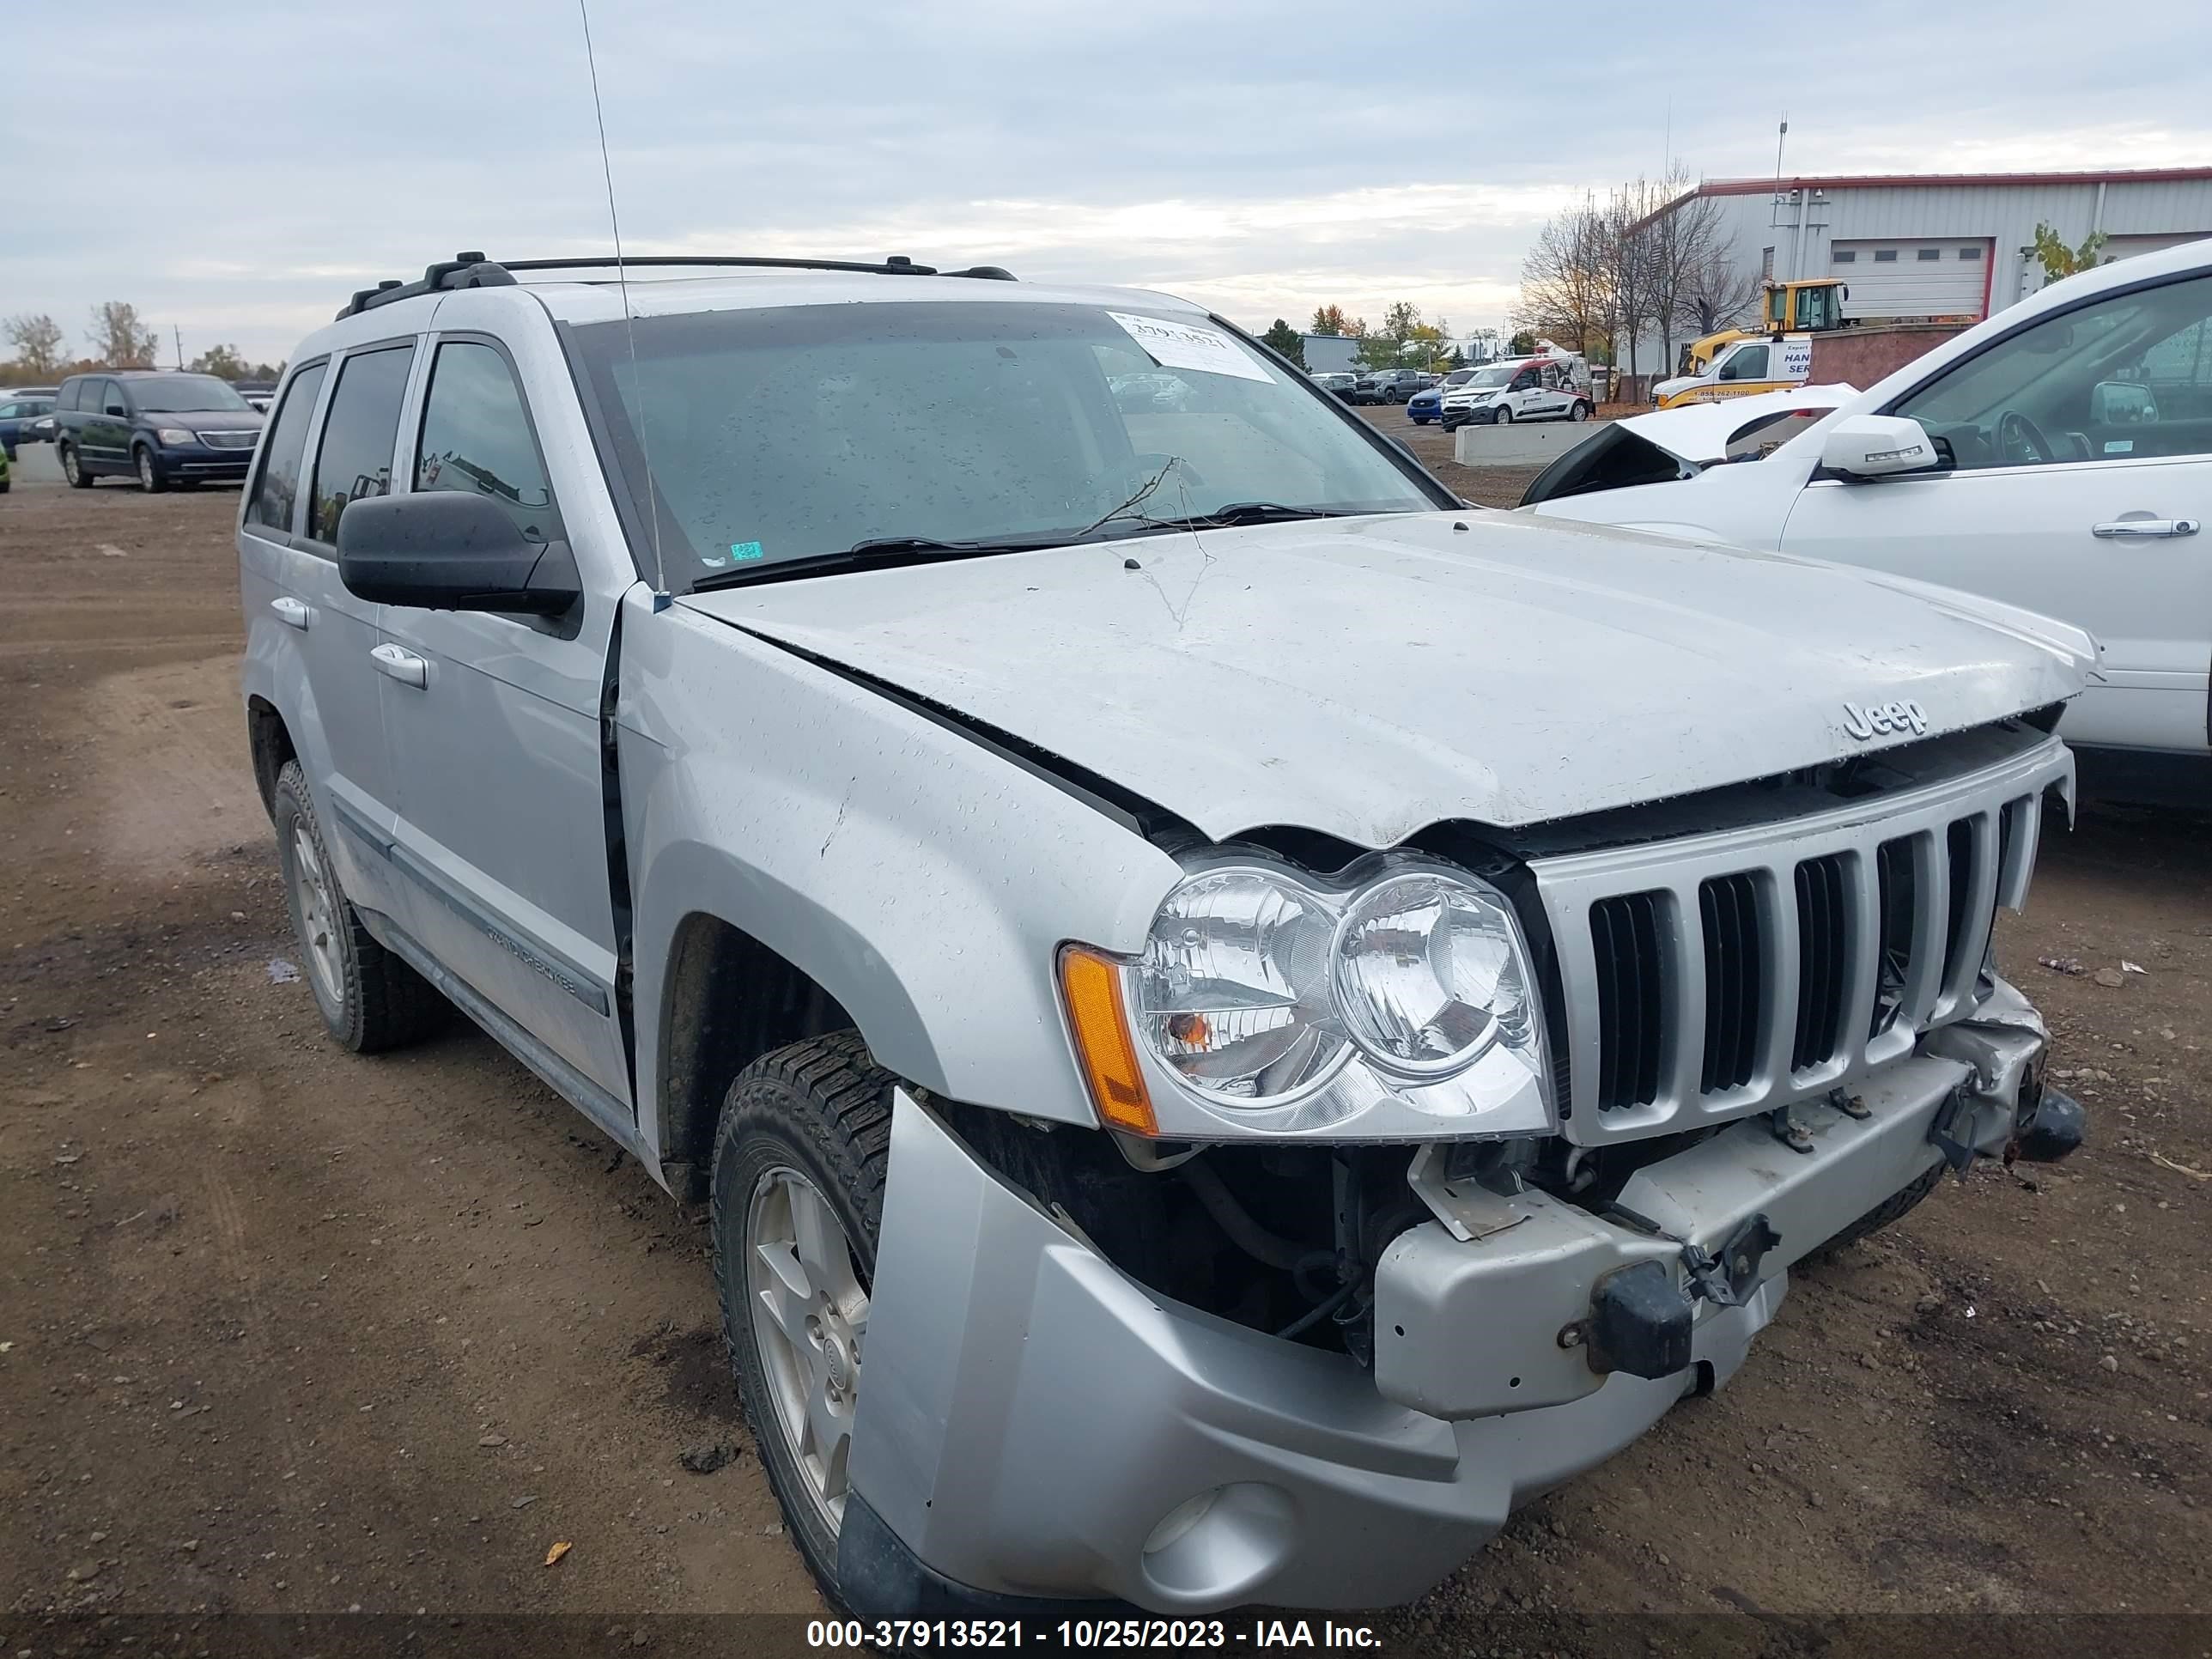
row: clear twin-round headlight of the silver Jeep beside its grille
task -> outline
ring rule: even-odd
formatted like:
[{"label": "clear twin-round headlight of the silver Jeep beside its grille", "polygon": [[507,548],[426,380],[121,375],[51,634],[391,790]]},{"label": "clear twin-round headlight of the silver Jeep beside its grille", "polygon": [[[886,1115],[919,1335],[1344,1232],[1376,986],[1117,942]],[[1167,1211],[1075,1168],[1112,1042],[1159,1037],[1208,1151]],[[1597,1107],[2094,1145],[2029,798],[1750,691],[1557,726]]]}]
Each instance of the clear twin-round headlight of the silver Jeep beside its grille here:
[{"label": "clear twin-round headlight of the silver Jeep beside its grille", "polygon": [[1389,856],[1332,885],[1243,860],[1161,902],[1121,993],[1177,1139],[1553,1133],[1542,1000],[1511,905]]}]

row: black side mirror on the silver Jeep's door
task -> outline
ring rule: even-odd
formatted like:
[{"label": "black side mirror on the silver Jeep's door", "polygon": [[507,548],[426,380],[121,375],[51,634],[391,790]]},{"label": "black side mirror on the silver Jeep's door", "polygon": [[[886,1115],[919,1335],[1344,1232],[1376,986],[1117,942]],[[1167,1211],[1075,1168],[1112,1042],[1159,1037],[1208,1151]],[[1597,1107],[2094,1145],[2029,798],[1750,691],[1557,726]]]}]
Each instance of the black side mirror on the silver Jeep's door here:
[{"label": "black side mirror on the silver Jeep's door", "polygon": [[557,617],[584,597],[566,542],[531,542],[484,495],[372,495],[338,520],[338,580],[372,604]]}]

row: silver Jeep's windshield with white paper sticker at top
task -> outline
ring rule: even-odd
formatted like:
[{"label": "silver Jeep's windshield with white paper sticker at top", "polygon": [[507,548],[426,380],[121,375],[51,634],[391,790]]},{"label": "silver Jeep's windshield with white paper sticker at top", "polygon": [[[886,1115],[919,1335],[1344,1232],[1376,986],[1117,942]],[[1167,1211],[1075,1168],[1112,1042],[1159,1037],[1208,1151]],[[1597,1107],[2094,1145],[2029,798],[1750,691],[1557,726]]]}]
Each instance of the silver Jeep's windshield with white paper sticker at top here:
[{"label": "silver Jeep's windshield with white paper sticker at top", "polygon": [[[1338,405],[1175,319],[1161,358],[1095,305],[880,301],[573,332],[668,586],[863,542],[1066,542],[1267,502],[1433,511]],[[1177,367],[1177,361],[1208,367]],[[650,453],[650,469],[646,456]],[[650,535],[650,531],[646,531]]]}]

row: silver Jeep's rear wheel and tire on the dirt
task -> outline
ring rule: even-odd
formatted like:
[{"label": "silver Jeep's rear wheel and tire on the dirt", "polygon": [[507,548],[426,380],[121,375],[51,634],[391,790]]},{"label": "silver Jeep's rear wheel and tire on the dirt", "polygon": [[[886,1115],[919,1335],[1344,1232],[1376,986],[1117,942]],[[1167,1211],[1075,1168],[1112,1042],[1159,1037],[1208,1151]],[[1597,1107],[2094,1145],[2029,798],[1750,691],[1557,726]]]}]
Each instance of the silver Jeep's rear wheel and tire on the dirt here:
[{"label": "silver Jeep's rear wheel and tire on the dirt", "polygon": [[338,867],[330,860],[299,761],[285,761],[276,774],[272,816],[292,938],[330,1035],[356,1055],[374,1055],[431,1031],[445,998],[361,925],[338,887]]}]

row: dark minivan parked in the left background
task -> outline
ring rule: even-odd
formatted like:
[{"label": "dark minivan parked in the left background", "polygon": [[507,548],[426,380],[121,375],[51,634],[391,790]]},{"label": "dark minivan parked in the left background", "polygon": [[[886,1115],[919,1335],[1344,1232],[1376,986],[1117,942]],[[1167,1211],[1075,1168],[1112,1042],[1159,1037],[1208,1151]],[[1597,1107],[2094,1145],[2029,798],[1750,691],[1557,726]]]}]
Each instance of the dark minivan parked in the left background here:
[{"label": "dark minivan parked in the left background", "polygon": [[62,380],[53,445],[77,489],[111,473],[153,493],[170,484],[246,482],[261,414],[228,380],[168,369],[102,369]]}]

